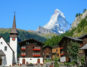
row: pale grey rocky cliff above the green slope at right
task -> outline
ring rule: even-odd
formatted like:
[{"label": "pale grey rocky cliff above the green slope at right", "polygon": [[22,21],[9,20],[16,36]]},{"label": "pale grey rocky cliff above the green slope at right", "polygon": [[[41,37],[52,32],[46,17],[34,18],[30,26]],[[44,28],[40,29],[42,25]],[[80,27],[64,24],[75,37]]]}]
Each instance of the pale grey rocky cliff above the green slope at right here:
[{"label": "pale grey rocky cliff above the green slope at right", "polygon": [[82,19],[84,19],[87,16],[87,10],[83,13],[77,16],[74,20],[74,22],[71,25],[71,29],[76,28],[78,24],[81,22]]}]

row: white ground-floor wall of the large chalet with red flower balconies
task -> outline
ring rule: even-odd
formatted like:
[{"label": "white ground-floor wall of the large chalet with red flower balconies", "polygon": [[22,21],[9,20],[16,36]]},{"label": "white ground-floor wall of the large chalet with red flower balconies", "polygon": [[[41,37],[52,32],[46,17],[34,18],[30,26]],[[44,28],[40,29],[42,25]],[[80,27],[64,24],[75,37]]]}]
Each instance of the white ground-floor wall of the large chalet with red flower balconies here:
[{"label": "white ground-floor wall of the large chalet with red flower balconies", "polygon": [[22,64],[22,60],[25,59],[25,64],[28,63],[32,63],[32,64],[37,64],[38,63],[38,59],[40,59],[40,64],[43,64],[43,58],[19,58],[19,64]]}]

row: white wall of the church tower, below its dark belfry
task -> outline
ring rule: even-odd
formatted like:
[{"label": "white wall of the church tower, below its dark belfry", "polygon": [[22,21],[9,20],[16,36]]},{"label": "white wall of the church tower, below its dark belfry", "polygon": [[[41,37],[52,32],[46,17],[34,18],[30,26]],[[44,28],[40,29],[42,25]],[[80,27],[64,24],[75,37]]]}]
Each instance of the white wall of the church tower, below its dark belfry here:
[{"label": "white wall of the church tower, below its dark belfry", "polygon": [[15,40],[12,40],[12,37],[10,37],[10,46],[14,51],[15,54],[15,63],[17,63],[17,38],[15,38]]}]

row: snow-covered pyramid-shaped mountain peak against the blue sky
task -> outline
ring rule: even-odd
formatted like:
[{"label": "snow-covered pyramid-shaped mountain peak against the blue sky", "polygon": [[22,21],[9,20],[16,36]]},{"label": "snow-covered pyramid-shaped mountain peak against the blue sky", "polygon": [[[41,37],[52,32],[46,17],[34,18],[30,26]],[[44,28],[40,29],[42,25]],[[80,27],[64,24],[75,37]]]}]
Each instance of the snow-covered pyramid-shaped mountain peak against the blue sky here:
[{"label": "snow-covered pyramid-shaped mountain peak against the blue sky", "polygon": [[70,24],[66,21],[64,14],[56,9],[50,21],[43,27],[37,29],[40,33],[62,34],[69,30]]}]

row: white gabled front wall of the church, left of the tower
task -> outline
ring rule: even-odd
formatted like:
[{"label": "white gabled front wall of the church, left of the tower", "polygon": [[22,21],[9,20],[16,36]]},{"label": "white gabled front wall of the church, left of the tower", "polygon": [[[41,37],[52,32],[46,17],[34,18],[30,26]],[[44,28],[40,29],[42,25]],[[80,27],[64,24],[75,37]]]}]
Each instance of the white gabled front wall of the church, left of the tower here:
[{"label": "white gabled front wall of the church, left of the tower", "polygon": [[[2,44],[1,44],[2,42]],[[7,47],[7,50],[5,51],[5,46]],[[10,66],[12,65],[12,60],[13,60],[13,52],[12,50],[9,48],[8,44],[4,41],[4,39],[1,37],[0,38],[0,50],[2,50],[5,54],[4,57],[2,57],[2,65],[5,66]]]}]

